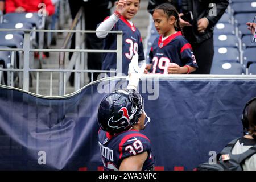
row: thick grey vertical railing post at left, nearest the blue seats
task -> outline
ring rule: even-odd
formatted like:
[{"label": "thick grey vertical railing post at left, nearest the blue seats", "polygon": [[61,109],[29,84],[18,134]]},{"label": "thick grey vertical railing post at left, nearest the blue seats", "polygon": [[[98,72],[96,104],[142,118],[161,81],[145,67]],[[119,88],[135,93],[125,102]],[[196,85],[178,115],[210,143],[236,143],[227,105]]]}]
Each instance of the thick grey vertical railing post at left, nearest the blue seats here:
[{"label": "thick grey vertical railing post at left, nearest the blue seats", "polygon": [[30,86],[30,32],[24,35],[24,60],[23,60],[23,90],[29,91]]}]

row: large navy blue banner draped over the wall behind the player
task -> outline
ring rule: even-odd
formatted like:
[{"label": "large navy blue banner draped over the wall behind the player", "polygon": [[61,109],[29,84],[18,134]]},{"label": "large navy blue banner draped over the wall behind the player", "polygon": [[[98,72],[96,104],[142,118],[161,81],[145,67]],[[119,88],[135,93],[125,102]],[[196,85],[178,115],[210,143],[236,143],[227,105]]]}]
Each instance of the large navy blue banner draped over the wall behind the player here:
[{"label": "large navy blue banner draped over the wall behind the player", "polygon": [[[98,105],[126,84],[105,79],[52,98],[0,86],[0,169],[102,169]],[[142,133],[164,170],[192,170],[242,136],[242,109],[256,96],[253,79],[147,79],[139,90],[151,118]]]}]

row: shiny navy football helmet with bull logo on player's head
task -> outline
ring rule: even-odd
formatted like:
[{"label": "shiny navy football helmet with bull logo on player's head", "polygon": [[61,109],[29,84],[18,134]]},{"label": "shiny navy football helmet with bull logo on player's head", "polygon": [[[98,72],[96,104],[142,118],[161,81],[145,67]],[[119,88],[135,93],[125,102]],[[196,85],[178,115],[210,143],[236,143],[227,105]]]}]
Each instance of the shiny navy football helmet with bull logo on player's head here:
[{"label": "shiny navy football helmet with bull logo on player's head", "polygon": [[104,131],[119,133],[137,123],[143,110],[144,99],[136,90],[117,90],[101,101],[98,123]]}]

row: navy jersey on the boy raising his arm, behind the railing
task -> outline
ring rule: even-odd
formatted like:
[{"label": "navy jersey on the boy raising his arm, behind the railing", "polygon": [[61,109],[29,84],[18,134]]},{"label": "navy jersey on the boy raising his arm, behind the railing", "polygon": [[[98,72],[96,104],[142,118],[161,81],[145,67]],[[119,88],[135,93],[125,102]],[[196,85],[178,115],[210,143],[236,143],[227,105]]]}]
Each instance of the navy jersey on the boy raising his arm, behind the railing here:
[{"label": "navy jersey on the boy raising his arm, behind the railing", "polygon": [[[139,61],[145,59],[141,33],[138,28],[131,26],[123,16],[115,23],[113,31],[123,31],[123,49],[122,49],[122,73],[128,75],[128,68],[131,58],[135,53],[139,55]],[[104,39],[103,48],[106,50],[117,49],[117,34],[108,34]],[[119,60],[118,60],[119,61]],[[121,61],[121,60],[120,60]],[[102,69],[110,70],[117,68],[116,53],[104,53]]]}]

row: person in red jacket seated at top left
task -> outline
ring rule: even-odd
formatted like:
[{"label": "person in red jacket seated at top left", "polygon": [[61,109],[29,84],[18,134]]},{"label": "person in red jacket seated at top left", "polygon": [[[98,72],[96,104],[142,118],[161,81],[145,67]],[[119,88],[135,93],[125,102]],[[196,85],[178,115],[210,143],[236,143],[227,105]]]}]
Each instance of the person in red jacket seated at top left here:
[{"label": "person in red jacket seated at top left", "polygon": [[36,12],[42,8],[42,6],[38,7],[40,3],[46,5],[47,16],[54,14],[55,9],[51,0],[6,0],[5,11],[6,13]]}]

